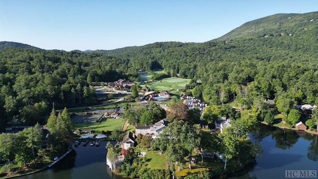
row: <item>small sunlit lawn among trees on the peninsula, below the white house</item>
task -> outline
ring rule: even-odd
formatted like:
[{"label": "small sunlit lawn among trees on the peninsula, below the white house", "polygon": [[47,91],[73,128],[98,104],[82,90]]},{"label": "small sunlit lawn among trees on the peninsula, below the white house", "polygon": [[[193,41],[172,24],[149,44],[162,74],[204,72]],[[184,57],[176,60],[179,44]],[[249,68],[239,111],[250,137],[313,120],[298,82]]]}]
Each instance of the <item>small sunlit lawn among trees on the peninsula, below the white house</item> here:
[{"label": "small sunlit lawn among trees on the peninsula, below the white house", "polygon": [[146,155],[147,167],[151,169],[167,169],[165,155],[159,155],[159,151],[148,151]]}]

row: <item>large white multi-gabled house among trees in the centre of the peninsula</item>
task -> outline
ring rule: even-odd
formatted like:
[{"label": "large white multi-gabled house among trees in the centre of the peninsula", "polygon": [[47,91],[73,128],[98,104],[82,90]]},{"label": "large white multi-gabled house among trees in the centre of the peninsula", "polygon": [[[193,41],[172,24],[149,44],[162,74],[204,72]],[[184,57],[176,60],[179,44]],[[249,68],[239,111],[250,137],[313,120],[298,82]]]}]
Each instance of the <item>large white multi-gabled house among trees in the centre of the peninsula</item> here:
[{"label": "large white multi-gabled house among trees in the centre of the peninsula", "polygon": [[168,121],[166,119],[162,119],[155,124],[136,125],[135,134],[149,135],[152,138],[156,138],[167,126]]}]

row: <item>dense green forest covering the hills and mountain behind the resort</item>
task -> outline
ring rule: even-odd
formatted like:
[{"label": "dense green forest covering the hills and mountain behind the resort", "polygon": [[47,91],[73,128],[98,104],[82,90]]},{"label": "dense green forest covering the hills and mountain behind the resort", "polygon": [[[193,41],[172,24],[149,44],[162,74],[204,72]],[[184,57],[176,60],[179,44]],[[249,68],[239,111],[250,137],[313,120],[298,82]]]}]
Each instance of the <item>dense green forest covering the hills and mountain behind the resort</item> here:
[{"label": "dense green forest covering the hills and mountain behind the resort", "polygon": [[2,49],[0,126],[12,118],[44,123],[53,102],[83,104],[91,82],[138,80],[137,70],[158,68],[192,79],[186,88],[209,104],[236,101],[260,108],[260,101],[271,98],[285,114],[295,104],[318,101],[317,19],[318,12],[275,14],[204,43],[157,42],[89,53]]}]

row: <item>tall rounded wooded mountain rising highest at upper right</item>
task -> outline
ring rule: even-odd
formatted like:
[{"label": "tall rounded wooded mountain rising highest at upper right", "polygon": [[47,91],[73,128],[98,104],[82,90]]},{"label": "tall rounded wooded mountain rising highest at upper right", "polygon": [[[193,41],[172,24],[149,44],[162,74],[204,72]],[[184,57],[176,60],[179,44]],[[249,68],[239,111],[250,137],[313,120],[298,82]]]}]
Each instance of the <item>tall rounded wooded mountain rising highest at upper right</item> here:
[{"label": "tall rounded wooded mountain rising highest at upper right", "polygon": [[279,13],[246,22],[214,40],[301,33],[305,30],[317,29],[317,22],[318,11],[303,14]]}]

